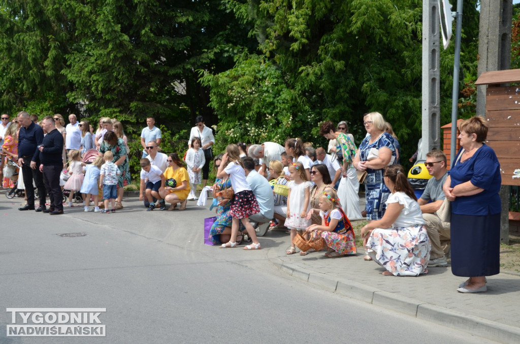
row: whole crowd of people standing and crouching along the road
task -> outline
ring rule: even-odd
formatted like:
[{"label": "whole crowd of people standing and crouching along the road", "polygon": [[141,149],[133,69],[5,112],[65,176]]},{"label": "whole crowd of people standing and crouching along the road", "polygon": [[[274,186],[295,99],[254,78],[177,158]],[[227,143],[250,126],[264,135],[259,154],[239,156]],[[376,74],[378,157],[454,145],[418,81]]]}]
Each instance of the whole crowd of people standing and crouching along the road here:
[{"label": "whole crowd of people standing and crouching along the road", "polygon": [[[20,211],[62,214],[62,187],[70,197],[82,194],[85,212],[122,209],[124,186],[130,183],[123,125],[101,118],[94,131],[74,114],[68,119],[64,125],[55,114],[37,124],[21,111],[10,123],[2,114],[2,186],[25,189],[27,204]],[[309,243],[322,240],[327,258],[351,256],[357,247],[350,220],[366,218],[361,228],[365,260],[383,266],[383,275],[425,274],[428,267],[447,266],[449,252],[452,272],[469,277],[459,292],[486,291],[486,276],[499,273],[500,165],[485,144],[488,127],[481,117],[459,125],[462,148],[449,172],[443,151],[434,149],[421,161],[431,179],[419,199],[399,164],[392,125],[379,112],[363,117],[367,135],[359,146],[345,121],[326,121],[320,126],[320,135],[329,139],[326,149],[287,138],[283,146],[230,144],[216,156],[213,131],[199,116],[183,158],[158,151],[162,136],[154,123],[147,118],[140,136],[139,199],[148,211],[184,210],[188,200],[198,198],[199,184],[203,192],[207,189],[213,162],[216,181],[210,189],[217,216],[209,240],[220,248],[237,247],[247,238],[244,250],[261,249],[254,227],[269,223],[272,230],[290,234],[286,254],[297,252],[298,237]],[[69,179],[60,185],[64,168]],[[359,208],[360,181],[366,190],[364,210]],[[446,203],[450,222],[437,213]],[[72,206],[72,198],[66,205]],[[299,254],[311,251],[300,248]]]}]

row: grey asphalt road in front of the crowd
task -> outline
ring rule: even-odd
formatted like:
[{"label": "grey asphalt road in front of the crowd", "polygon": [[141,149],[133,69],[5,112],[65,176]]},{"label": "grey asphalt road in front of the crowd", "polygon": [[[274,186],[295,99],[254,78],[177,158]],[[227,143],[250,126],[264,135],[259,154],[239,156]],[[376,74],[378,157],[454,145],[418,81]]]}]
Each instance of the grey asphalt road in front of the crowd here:
[{"label": "grey asphalt road in front of the crowd", "polygon": [[[194,202],[51,216],[19,201],[0,195],[0,343],[489,342],[285,275],[266,258],[283,233],[259,251],[205,246],[212,213]],[[7,308],[106,308],[106,337],[7,337]]]}]

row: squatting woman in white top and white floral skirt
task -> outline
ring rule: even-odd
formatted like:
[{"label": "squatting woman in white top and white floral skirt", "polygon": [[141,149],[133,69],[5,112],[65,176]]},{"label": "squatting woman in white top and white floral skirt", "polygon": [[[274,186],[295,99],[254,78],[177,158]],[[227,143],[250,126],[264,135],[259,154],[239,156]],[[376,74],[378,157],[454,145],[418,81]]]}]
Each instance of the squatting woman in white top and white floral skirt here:
[{"label": "squatting woman in white top and white floral skirt", "polygon": [[385,201],[383,218],[361,228],[363,244],[370,257],[386,269],[385,276],[426,274],[430,238],[405,170],[401,165],[388,166],[383,180],[392,195]]}]

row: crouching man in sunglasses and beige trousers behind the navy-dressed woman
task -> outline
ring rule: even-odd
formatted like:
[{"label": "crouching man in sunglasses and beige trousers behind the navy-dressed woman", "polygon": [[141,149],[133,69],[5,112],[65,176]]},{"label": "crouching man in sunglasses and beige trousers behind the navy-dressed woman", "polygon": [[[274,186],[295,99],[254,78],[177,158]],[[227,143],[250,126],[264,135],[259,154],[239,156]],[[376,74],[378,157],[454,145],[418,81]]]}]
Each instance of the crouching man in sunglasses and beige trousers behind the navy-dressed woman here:
[{"label": "crouching man in sunglasses and beige trousers behind the navy-dressed woman", "polygon": [[[450,224],[440,221],[439,216],[435,213],[446,198],[443,191],[443,185],[448,176],[446,155],[442,150],[432,150],[426,154],[426,162],[424,164],[428,173],[433,177],[428,180],[424,193],[418,200],[423,218],[426,221],[426,232],[432,242],[432,253],[430,254],[428,267],[447,266],[448,262],[444,254],[445,248],[446,251],[449,248]],[[431,202],[428,203],[428,201]]]}]

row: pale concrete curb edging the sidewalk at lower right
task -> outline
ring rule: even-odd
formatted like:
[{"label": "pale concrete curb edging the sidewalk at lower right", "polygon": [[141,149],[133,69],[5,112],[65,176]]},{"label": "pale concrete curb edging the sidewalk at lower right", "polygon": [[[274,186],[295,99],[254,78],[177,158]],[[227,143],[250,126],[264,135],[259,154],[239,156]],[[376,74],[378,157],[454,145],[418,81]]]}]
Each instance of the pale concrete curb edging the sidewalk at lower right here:
[{"label": "pale concrete curb edging the sidewalk at lower right", "polygon": [[[268,254],[269,256],[269,254]],[[280,256],[268,257],[269,261],[288,275],[302,279],[337,294],[379,307],[399,311],[432,323],[503,343],[520,342],[520,328],[500,324],[477,316],[445,309],[437,305],[402,297],[354,281],[338,281],[337,278],[316,273],[301,266],[284,262]]]}]

